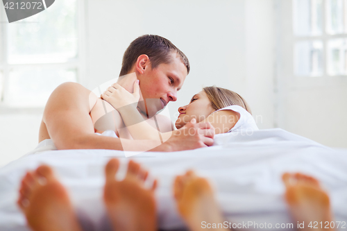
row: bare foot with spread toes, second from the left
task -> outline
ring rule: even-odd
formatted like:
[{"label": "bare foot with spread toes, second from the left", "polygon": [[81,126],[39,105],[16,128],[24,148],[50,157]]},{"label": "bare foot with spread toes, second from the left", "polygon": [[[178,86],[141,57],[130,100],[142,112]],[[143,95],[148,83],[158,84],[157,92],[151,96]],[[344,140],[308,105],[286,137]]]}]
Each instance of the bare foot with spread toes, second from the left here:
[{"label": "bare foot with spread toes, second from the left", "polygon": [[112,228],[128,231],[156,231],[157,219],[154,191],[157,181],[151,189],[144,187],[148,171],[130,160],[126,177],[122,181],[115,179],[119,160],[111,159],[105,167],[105,188],[103,200],[108,210]]}]

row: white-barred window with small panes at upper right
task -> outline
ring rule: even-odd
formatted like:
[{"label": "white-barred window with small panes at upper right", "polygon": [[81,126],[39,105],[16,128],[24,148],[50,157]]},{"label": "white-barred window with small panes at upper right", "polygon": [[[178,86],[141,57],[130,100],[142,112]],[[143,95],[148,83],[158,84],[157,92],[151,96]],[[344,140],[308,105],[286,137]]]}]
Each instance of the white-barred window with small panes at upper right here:
[{"label": "white-barred window with small panes at upper right", "polygon": [[294,74],[347,75],[347,0],[293,0]]}]

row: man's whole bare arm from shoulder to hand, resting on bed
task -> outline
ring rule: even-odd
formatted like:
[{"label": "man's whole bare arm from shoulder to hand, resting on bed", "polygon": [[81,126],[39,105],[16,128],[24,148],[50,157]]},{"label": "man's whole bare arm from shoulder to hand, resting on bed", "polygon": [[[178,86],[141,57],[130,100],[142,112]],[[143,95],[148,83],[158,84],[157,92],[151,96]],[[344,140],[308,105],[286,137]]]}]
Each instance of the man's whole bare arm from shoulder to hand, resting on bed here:
[{"label": "man's whole bare arm from shoulder to hand, resting on bed", "polygon": [[[96,102],[96,99],[95,99]],[[155,140],[130,140],[94,134],[90,110],[94,106],[90,90],[78,83],[58,86],[46,103],[43,121],[58,149],[113,149],[126,151],[180,151],[213,144],[213,127],[191,124],[164,144]],[[190,132],[187,132],[189,128]],[[155,148],[153,148],[155,147]]]}]

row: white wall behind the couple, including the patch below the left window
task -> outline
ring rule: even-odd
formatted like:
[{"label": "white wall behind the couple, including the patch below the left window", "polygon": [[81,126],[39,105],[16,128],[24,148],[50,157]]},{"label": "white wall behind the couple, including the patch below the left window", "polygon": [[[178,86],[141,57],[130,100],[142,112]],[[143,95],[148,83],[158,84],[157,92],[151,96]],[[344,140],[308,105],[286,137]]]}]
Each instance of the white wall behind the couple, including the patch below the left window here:
[{"label": "white wall behind the couple, including the patch below the left window", "polygon": [[[244,96],[260,128],[273,128],[272,0],[87,0],[85,17],[88,89],[118,76],[136,37],[158,34],[192,66],[178,101],[169,103],[172,114],[201,87],[217,85]],[[0,113],[0,166],[37,145],[41,117]]]}]

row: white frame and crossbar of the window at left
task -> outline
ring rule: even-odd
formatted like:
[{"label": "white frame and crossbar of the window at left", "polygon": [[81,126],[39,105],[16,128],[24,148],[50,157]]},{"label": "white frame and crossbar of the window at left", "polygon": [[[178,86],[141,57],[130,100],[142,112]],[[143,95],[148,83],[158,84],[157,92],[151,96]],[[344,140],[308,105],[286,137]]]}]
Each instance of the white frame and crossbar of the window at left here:
[{"label": "white frame and crossbar of the window at left", "polygon": [[[3,89],[0,95],[0,114],[10,114],[10,113],[43,113],[44,105],[42,107],[17,107],[13,105],[8,105],[4,102],[6,95],[8,95],[8,80],[10,70],[12,68],[21,68],[21,67],[44,67],[44,68],[60,68],[76,69],[76,83],[85,85],[85,1],[76,0],[77,2],[77,34],[78,34],[78,55],[76,60],[63,63],[35,63],[35,64],[8,64],[8,19],[6,17],[5,8],[3,4],[0,3],[0,72],[2,71],[3,77]],[[20,22],[15,23],[25,23],[26,19],[23,19]]]}]

